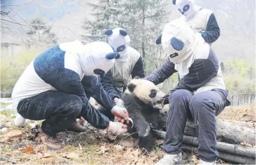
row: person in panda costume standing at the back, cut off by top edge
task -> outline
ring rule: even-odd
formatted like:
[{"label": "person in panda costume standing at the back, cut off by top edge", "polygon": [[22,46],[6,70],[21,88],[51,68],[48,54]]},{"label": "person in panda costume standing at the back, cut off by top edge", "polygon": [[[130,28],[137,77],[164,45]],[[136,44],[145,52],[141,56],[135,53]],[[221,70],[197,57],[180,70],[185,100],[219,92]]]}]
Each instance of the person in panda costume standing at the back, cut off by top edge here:
[{"label": "person in panda costume standing at the back, cut off by top edge", "polygon": [[195,5],[194,0],[173,0],[178,11],[183,15],[180,19],[187,22],[195,32],[198,32],[208,44],[214,43],[220,37],[220,27],[213,11]]}]

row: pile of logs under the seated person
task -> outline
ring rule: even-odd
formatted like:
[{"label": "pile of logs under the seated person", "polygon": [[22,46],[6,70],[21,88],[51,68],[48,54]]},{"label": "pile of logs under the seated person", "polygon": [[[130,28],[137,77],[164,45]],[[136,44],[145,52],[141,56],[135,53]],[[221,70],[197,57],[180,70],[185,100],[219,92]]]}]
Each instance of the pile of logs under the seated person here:
[{"label": "pile of logs under the seated person", "polygon": [[[161,127],[166,130],[167,111],[161,112]],[[164,138],[166,132],[155,130],[157,138]],[[224,141],[217,142],[217,150],[221,160],[235,164],[256,164],[255,147],[241,146],[240,143],[246,141],[255,145],[255,126],[254,123],[240,121],[217,120],[217,138]],[[198,140],[195,132],[195,124],[187,121],[183,137],[183,150],[193,150],[197,152]]]}]

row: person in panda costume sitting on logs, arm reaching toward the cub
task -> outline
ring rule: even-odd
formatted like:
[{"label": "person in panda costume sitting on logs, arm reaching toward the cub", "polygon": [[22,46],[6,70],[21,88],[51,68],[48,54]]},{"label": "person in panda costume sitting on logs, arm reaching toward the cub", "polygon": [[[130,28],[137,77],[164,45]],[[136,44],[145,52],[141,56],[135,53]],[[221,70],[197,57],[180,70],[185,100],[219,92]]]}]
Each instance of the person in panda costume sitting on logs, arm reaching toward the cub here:
[{"label": "person in panda costume sitting on logs, arm reaching toward the cub", "polygon": [[203,37],[180,19],[166,24],[162,34],[156,43],[162,45],[167,60],[144,79],[157,85],[176,72],[180,79],[168,98],[167,131],[163,144],[166,155],[157,164],[181,163],[181,144],[187,119],[194,120],[196,125],[201,164],[215,164],[218,158],[215,116],[230,105],[218,59]]}]

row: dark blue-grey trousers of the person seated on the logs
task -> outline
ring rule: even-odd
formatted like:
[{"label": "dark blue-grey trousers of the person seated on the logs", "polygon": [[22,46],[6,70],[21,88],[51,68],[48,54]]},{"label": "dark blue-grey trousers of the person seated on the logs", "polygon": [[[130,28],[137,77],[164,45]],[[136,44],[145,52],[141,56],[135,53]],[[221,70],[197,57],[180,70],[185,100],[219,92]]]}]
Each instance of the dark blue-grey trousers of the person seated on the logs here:
[{"label": "dark blue-grey trousers of the person seated on the logs", "polygon": [[227,91],[212,89],[195,95],[185,89],[179,89],[169,95],[167,131],[163,149],[167,154],[181,152],[184,128],[188,118],[192,118],[198,135],[198,155],[203,161],[215,161],[218,158],[217,123],[215,116],[223,111]]}]

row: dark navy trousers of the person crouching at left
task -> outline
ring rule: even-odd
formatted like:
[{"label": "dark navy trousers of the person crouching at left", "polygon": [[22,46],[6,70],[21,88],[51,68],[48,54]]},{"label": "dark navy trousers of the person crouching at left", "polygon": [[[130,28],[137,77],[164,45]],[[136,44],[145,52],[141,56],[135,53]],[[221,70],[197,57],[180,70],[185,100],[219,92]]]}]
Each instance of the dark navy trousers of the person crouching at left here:
[{"label": "dark navy trousers of the person crouching at left", "polygon": [[30,120],[44,120],[41,129],[47,135],[65,131],[75,118],[81,116],[83,102],[77,95],[58,91],[46,91],[23,99],[18,113]]}]

